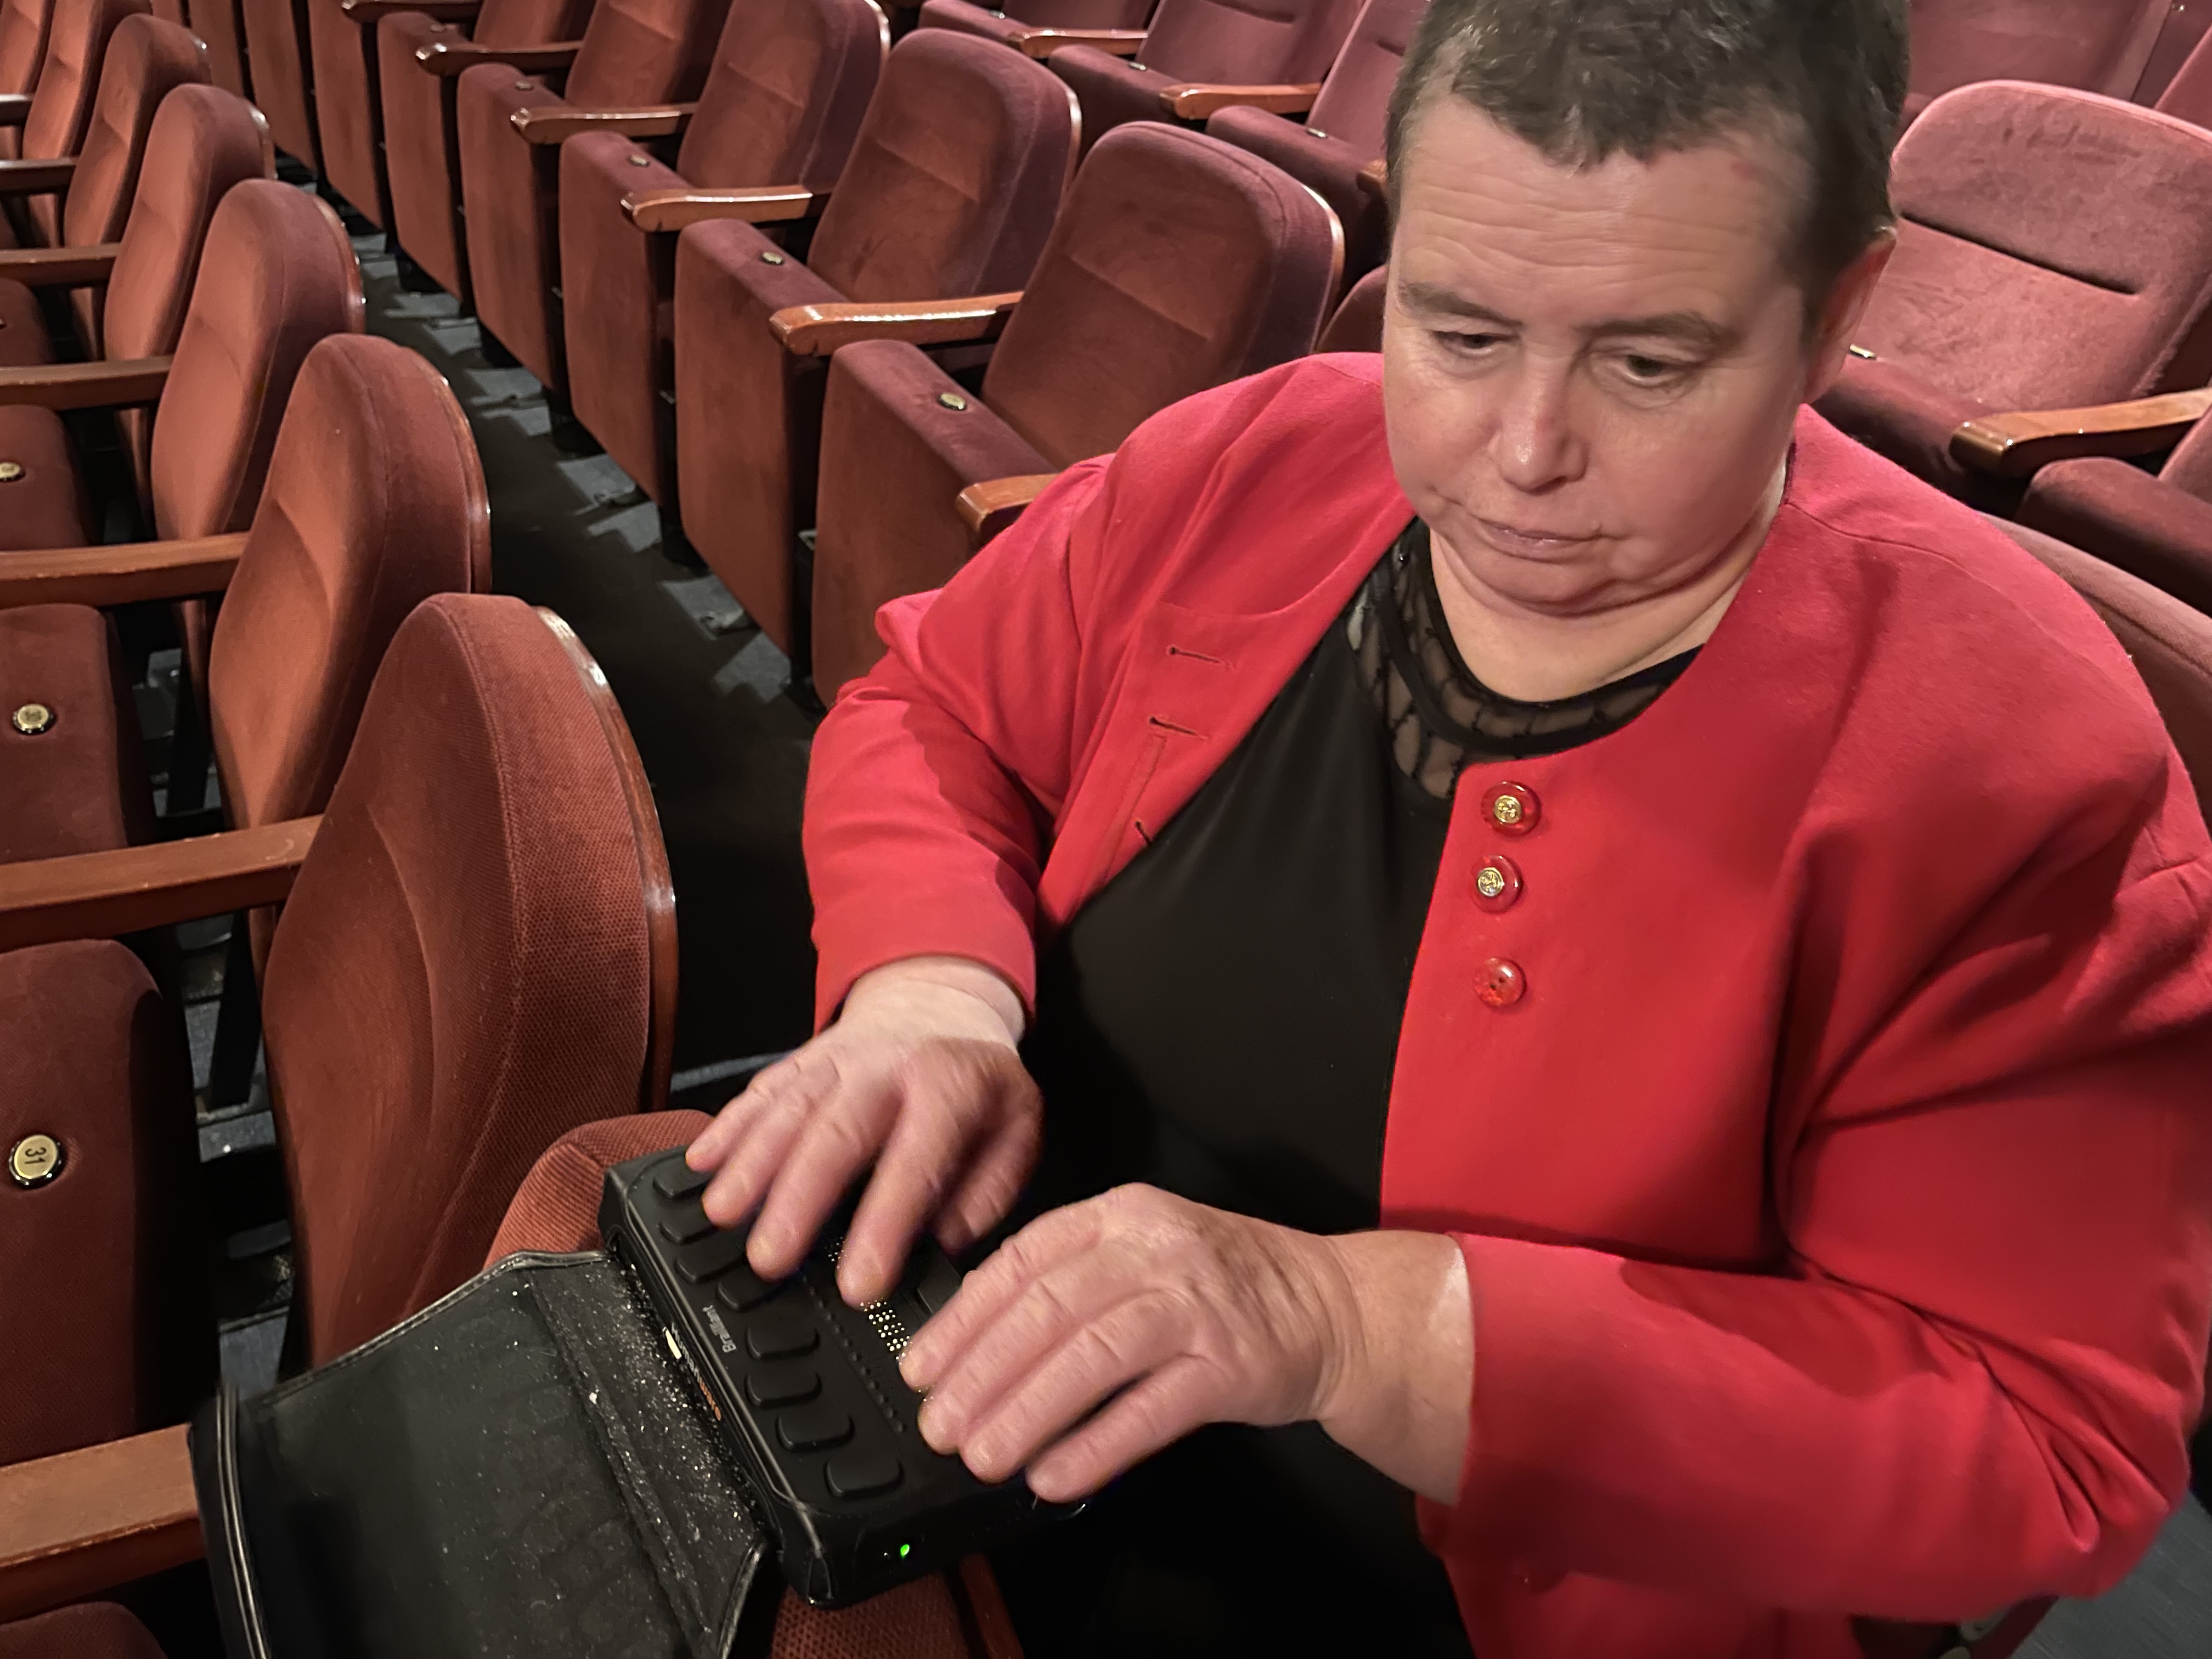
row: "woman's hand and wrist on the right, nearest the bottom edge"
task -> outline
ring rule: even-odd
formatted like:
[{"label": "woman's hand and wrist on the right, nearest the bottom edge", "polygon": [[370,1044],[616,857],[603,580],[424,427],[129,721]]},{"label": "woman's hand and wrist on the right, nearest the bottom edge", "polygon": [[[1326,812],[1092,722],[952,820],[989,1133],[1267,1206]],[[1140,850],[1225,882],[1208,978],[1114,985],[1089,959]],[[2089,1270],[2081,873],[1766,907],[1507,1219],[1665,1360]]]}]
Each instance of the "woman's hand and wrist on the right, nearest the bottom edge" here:
[{"label": "woman's hand and wrist on the right, nearest the bottom edge", "polygon": [[[1429,1272],[1407,1274],[1407,1252]],[[1398,1409],[1411,1378],[1376,1376],[1376,1360],[1400,1360],[1400,1343],[1394,1329],[1376,1327],[1378,1312],[1385,1321],[1398,1314],[1363,1307],[1363,1298],[1376,1301],[1378,1287],[1360,1283],[1374,1267],[1400,1281],[1383,1301],[1402,1303],[1420,1327],[1433,1332],[1436,1314],[1447,1314],[1447,1329],[1429,1345],[1442,1349],[1449,1447],[1422,1453],[1449,1471],[1391,1469],[1402,1462],[1391,1447],[1376,1455],[1360,1444],[1374,1438],[1360,1425],[1374,1425],[1378,1411],[1396,1420],[1385,1440],[1409,1427],[1438,1440],[1438,1425],[1409,1425]],[[1409,1484],[1442,1482],[1449,1495],[1471,1374],[1464,1307],[1464,1270],[1449,1239],[1325,1239],[1124,1186],[1053,1210],[1009,1239],[916,1334],[900,1369],[929,1396],[920,1429],[931,1447],[958,1451],[980,1480],[1026,1467],[1031,1491],[1048,1502],[1097,1491],[1203,1422],[1303,1418],[1318,1418],[1400,1480],[1436,1473]]]}]

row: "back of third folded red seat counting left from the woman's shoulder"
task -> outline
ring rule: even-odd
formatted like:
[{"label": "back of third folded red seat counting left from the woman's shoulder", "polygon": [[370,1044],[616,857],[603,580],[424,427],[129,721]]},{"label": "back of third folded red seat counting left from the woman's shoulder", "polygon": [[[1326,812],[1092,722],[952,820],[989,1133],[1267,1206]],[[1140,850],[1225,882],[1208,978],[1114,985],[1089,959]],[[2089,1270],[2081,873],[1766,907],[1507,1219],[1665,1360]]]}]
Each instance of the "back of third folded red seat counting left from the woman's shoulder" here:
[{"label": "back of third folded red seat counting left from the woman's shoulder", "polygon": [[891,24],[872,0],[739,0],[714,44],[699,113],[684,128],[677,173],[708,188],[827,190],[889,40]]}]

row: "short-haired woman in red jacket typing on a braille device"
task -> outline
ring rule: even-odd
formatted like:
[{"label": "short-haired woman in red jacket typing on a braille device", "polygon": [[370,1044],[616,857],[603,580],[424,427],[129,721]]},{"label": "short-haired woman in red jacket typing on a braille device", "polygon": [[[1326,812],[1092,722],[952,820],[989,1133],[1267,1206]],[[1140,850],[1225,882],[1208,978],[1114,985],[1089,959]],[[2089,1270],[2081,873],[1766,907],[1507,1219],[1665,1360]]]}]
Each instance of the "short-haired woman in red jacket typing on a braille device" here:
[{"label": "short-haired woman in red jacket typing on a braille device", "polygon": [[1035,1652],[1847,1655],[2181,1491],[2205,827],[2097,619],[1803,407],[1902,88],[1902,0],[1438,0],[1380,363],[885,608],[823,1033],[690,1159],[770,1274],[872,1166],[856,1301],[1026,1190],[905,1371],[1099,1495]]}]

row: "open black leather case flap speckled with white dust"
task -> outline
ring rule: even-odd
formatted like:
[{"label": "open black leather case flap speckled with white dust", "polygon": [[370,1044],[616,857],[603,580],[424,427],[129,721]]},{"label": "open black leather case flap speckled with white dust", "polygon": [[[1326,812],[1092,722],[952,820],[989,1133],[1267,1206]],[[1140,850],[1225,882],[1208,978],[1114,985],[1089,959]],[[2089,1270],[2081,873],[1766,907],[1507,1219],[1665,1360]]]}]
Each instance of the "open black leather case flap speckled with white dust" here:
[{"label": "open black leather case flap speckled with white dust", "polygon": [[754,1659],[783,1582],[659,1321],[522,1254],[276,1389],[192,1478],[232,1659]]}]

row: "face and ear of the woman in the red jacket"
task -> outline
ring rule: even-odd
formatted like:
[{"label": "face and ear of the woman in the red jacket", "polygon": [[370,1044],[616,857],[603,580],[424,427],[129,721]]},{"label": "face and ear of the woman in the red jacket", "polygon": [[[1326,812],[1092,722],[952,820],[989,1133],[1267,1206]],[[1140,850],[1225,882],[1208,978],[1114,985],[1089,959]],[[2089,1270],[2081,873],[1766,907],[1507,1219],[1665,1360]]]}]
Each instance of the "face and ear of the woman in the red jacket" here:
[{"label": "face and ear of the woman in the red jacket", "polygon": [[1568,168],[1458,97],[1416,117],[1383,396],[1398,482],[1471,597],[1593,617],[1763,531],[1798,403],[1887,252],[1807,341],[1785,265],[1801,179],[1756,133]]}]

